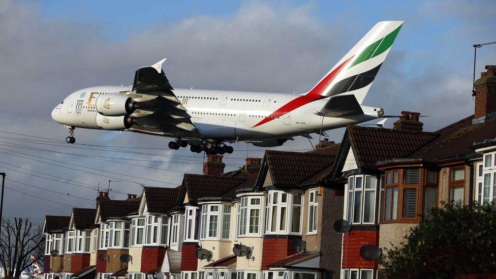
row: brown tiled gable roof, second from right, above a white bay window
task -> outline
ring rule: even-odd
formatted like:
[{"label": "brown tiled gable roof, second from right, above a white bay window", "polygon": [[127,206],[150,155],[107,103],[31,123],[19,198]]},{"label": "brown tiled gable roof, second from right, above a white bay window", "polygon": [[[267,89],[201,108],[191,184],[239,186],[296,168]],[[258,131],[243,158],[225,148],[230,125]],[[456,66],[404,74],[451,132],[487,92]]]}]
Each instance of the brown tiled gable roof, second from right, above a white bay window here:
[{"label": "brown tiled gable roof, second from right, above a white bay window", "polygon": [[[335,156],[318,153],[265,151],[272,185],[297,185],[332,166]],[[315,178],[318,180],[318,178]]]}]

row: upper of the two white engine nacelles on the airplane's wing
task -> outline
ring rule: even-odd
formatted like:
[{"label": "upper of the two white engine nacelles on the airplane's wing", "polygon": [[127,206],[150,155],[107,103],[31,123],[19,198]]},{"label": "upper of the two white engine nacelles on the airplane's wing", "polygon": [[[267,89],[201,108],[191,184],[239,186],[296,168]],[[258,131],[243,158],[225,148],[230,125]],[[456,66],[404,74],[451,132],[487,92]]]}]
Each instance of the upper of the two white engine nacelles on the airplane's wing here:
[{"label": "upper of the two white engine nacelles on the airplane's wing", "polygon": [[137,106],[133,99],[120,94],[99,95],[95,103],[98,113],[106,116],[132,114]]}]

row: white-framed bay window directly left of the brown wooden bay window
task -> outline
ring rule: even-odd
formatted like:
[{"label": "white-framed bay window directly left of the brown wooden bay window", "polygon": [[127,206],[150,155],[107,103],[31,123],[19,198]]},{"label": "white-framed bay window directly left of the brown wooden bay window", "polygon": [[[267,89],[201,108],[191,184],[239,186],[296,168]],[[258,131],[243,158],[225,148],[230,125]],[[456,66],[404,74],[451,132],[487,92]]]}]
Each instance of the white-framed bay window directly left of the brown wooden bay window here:
[{"label": "white-framed bay window directly left of the brown wooden bay window", "polygon": [[377,177],[353,175],[348,177],[345,216],[351,224],[374,224],[376,220]]}]

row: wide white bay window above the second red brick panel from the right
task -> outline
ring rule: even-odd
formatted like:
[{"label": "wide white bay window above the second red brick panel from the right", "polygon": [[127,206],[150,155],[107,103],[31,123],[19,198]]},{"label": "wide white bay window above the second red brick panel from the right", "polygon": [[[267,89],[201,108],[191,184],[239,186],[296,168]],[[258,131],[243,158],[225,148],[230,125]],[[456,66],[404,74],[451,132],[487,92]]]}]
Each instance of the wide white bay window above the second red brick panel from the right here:
[{"label": "wide white bay window above the second red brick panel from the right", "polygon": [[301,193],[270,190],[266,210],[265,233],[301,234]]}]

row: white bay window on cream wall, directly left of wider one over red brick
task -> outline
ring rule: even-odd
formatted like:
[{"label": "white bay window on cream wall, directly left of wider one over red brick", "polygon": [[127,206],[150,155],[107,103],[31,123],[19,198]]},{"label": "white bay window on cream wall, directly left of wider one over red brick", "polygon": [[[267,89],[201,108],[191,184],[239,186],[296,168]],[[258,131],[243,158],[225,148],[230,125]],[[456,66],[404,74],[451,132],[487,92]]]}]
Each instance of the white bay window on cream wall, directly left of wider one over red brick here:
[{"label": "white bay window on cream wall, directly left of wider one over red brick", "polygon": [[262,234],[262,196],[242,197],[237,208],[237,236],[260,236]]}]

